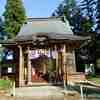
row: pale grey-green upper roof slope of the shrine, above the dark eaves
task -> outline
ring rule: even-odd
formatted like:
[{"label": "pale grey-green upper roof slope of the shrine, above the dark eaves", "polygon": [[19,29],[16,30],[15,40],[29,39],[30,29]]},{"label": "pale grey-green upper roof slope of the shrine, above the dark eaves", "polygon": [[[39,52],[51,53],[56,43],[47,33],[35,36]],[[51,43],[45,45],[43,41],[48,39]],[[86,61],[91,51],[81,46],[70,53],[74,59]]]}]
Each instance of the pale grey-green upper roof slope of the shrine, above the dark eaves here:
[{"label": "pale grey-green upper roof slope of the shrine, above the dark eaves", "polygon": [[18,36],[32,35],[37,33],[57,33],[73,34],[68,21],[65,23],[61,18],[30,18],[27,24],[24,24]]}]

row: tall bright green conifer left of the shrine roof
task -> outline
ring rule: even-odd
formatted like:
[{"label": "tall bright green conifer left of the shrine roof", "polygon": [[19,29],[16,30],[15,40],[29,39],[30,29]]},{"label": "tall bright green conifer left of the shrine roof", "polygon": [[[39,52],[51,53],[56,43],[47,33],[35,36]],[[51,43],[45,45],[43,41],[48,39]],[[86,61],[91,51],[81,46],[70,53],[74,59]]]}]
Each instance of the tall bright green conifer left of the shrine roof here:
[{"label": "tall bright green conifer left of the shrine roof", "polygon": [[5,31],[9,38],[13,38],[19,32],[26,20],[25,9],[21,0],[7,0],[4,12]]}]

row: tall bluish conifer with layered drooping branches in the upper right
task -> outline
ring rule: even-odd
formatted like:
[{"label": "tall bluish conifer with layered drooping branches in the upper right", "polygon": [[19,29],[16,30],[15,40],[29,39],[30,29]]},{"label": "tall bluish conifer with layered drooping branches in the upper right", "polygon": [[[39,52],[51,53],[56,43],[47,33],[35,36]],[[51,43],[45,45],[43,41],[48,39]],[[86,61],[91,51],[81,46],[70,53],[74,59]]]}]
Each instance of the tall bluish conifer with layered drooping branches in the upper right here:
[{"label": "tall bluish conifer with layered drooping branches in the upper right", "polygon": [[86,25],[88,28],[87,32],[92,32],[94,27],[94,15],[95,15],[95,0],[80,0],[80,9],[87,18]]}]

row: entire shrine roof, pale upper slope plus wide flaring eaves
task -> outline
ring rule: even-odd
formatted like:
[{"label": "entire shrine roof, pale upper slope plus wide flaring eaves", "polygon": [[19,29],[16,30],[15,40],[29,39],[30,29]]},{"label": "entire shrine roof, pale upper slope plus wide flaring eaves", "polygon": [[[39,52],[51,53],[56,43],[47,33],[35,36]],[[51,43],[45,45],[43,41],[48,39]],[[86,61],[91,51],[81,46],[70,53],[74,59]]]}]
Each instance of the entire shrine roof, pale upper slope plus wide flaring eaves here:
[{"label": "entire shrine roof, pale upper slope plus wide flaring eaves", "polygon": [[[42,37],[42,38],[40,38]],[[61,17],[49,18],[29,18],[27,23],[24,24],[18,35],[11,40],[0,41],[1,44],[16,45],[17,42],[36,41],[36,39],[43,39],[46,37],[48,40],[57,41],[84,41],[89,40],[90,37],[81,37],[73,34],[71,27],[66,20],[63,22]]]}]

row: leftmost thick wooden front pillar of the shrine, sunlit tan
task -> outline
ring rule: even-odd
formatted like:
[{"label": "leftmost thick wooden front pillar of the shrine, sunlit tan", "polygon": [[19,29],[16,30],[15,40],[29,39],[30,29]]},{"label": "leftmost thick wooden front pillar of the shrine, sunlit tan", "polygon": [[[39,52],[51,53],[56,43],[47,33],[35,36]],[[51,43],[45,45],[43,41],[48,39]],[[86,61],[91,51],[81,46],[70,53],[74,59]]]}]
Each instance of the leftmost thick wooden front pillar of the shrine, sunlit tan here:
[{"label": "leftmost thick wooden front pillar of the shrine, sunlit tan", "polygon": [[18,46],[19,48],[19,86],[24,85],[24,57],[22,46]]}]

